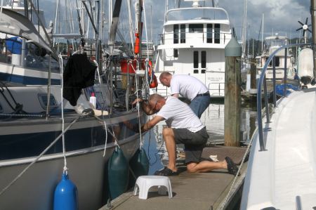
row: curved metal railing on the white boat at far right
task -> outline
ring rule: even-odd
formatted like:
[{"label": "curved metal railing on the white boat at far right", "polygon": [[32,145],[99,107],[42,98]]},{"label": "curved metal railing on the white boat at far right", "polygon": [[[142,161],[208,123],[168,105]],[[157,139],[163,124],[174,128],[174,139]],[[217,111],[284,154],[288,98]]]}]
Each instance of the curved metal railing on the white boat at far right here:
[{"label": "curved metal railing on the white boat at far right", "polygon": [[[267,91],[267,83],[265,79],[265,71],[269,67],[269,63],[272,60],[272,70],[273,70],[273,106],[277,107],[277,96],[276,96],[276,77],[275,77],[275,55],[279,52],[285,49],[284,53],[284,95],[282,97],[287,97],[287,50],[288,48],[294,47],[294,46],[310,46],[311,44],[289,44],[286,46],[281,46],[277,50],[275,50],[269,58],[265,61],[265,65],[263,66],[263,70],[261,71],[261,76],[258,81],[258,86],[257,86],[257,93],[261,93],[262,91],[262,86],[264,88],[264,94],[263,96],[265,97],[265,119],[266,123],[270,123],[270,114],[269,114],[269,106],[268,106],[268,91]],[[266,138],[263,138],[263,122],[262,122],[262,98],[261,94],[257,94],[257,117],[258,117],[258,137],[259,137],[259,145],[260,145],[260,150],[259,151],[265,151],[265,145],[266,145]],[[268,130],[267,130],[268,131]],[[265,131],[266,132],[266,131]]]}]

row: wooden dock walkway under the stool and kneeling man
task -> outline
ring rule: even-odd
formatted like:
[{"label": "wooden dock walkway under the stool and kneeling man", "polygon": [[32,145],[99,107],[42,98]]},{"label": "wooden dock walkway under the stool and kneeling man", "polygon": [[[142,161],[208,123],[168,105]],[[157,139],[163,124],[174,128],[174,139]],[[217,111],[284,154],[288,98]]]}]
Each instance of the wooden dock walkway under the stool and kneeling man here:
[{"label": "wooden dock walkway under the stool and kneeling man", "polygon": [[[206,147],[202,157],[217,155],[219,161],[226,156],[236,163],[241,163],[246,147]],[[228,197],[235,176],[225,169],[216,169],[206,173],[188,173],[185,165],[178,166],[178,176],[169,176],[173,198],[168,195],[159,195],[157,187],[150,188],[147,199],[139,199],[133,195],[133,189],[112,200],[110,208],[106,204],[100,210],[209,210],[209,209],[236,209],[242,196],[242,185],[246,176],[247,162],[242,165],[240,176]],[[239,209],[239,207],[237,207]]]}]

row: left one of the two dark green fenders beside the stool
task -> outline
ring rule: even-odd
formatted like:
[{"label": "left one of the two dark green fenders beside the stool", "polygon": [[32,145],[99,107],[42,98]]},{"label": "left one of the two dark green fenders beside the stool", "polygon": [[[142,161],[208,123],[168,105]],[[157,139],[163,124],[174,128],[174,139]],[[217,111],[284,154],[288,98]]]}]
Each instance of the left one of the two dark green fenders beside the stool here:
[{"label": "left one of the two dark green fenders beside the stool", "polygon": [[107,167],[110,198],[115,199],[126,192],[129,185],[129,162],[121,148],[115,148]]}]

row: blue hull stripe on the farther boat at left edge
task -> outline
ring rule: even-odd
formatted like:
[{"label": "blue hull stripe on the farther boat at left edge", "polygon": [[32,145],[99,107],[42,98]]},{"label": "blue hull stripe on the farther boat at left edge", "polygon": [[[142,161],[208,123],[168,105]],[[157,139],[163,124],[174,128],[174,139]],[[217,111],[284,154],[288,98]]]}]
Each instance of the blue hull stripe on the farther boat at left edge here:
[{"label": "blue hull stripe on the farther boat at left edge", "polygon": [[[1,81],[11,81],[18,84],[25,85],[47,85],[48,79],[39,78],[39,77],[27,77],[16,74],[6,74],[0,72],[0,80]],[[51,79],[52,85],[60,85],[60,79]]]}]

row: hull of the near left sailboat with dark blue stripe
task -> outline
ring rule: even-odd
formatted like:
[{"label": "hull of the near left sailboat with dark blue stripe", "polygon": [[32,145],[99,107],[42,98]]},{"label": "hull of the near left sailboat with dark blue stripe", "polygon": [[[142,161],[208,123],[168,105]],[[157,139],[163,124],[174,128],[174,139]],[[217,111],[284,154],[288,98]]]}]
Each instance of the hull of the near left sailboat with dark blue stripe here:
[{"label": "hull of the near left sailboat with dark blue stripe", "polygon": [[[145,115],[140,117],[145,119]],[[65,120],[65,127],[71,119]],[[128,122],[138,122],[137,112],[105,119],[108,128],[105,157],[103,152],[106,135],[103,122],[94,117],[79,119],[66,132],[67,168],[70,180],[78,188],[79,209],[98,209],[107,200],[105,169],[115,148],[112,134],[118,139],[126,159],[131,159],[138,150],[140,135],[128,128]],[[0,126],[0,190],[3,190],[60,134],[61,124],[60,118],[56,117],[55,121],[51,119],[46,123],[45,119],[28,120],[28,123],[20,119],[15,122],[1,122]],[[109,128],[112,128],[112,134]],[[0,195],[0,209],[53,209],[53,194],[62,176],[63,167],[60,139],[48,150],[47,155],[41,157]]]}]

